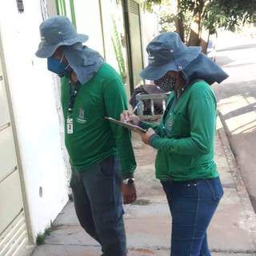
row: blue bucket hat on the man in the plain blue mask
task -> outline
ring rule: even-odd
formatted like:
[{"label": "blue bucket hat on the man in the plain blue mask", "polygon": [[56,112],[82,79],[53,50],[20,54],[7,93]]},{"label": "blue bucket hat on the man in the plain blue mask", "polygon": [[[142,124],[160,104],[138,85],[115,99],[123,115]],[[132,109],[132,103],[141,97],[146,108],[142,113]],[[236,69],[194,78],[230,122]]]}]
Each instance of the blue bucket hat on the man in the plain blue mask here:
[{"label": "blue bucket hat on the man in the plain blue mask", "polygon": [[39,27],[41,42],[36,56],[49,58],[59,46],[72,46],[77,42],[86,42],[86,34],[78,34],[74,25],[66,16],[48,18]]}]

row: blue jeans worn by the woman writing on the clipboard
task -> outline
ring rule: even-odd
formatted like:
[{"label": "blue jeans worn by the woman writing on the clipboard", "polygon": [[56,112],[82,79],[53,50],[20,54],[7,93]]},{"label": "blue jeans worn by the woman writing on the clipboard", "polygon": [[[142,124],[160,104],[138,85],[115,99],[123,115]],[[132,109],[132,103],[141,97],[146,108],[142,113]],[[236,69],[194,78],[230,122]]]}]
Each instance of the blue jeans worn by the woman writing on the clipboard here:
[{"label": "blue jeans worn by the woman writing on the clipboard", "polygon": [[223,195],[219,178],[162,182],[172,215],[171,256],[210,256],[207,228]]}]

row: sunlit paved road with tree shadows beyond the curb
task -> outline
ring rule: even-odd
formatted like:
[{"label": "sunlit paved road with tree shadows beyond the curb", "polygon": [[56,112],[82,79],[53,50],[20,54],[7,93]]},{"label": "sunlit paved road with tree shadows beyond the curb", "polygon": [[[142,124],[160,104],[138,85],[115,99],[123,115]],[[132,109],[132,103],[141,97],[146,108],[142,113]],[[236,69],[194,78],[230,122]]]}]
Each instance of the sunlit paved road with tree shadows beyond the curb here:
[{"label": "sunlit paved road with tree shadows beyond the curb", "polygon": [[256,211],[256,38],[220,38],[217,62],[230,78],[214,86],[218,110]]}]

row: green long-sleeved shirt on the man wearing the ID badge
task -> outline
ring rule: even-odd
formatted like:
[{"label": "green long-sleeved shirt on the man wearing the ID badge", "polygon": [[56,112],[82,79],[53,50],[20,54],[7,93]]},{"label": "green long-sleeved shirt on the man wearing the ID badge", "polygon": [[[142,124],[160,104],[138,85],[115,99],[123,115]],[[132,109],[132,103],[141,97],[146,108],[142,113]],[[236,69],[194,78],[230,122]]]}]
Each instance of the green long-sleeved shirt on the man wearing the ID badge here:
[{"label": "green long-sleeved shirt on the man wearing the ID badge", "polygon": [[[73,89],[72,89],[73,90]],[[120,118],[127,110],[126,91],[118,73],[107,63],[86,84],[79,86],[74,101],[73,134],[67,134],[66,121],[70,102],[69,78],[62,78],[62,109],[65,118],[65,144],[70,164],[75,170],[118,155],[124,178],[133,175],[136,168],[130,132],[110,123],[105,117]]]}]

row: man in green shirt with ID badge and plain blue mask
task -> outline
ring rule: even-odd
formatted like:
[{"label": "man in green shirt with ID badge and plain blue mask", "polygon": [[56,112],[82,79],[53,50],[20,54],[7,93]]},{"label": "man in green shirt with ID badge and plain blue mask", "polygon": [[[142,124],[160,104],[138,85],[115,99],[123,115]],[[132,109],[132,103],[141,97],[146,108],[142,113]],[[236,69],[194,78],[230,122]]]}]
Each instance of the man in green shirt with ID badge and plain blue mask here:
[{"label": "man in green shirt with ID badge and plain blue mask", "polygon": [[[65,16],[40,26],[36,55],[62,79],[65,143],[70,155],[70,186],[81,226],[102,246],[104,256],[126,255],[122,202],[136,199],[136,162],[130,132],[105,117],[127,110],[126,90],[118,73],[98,52],[83,46]],[[123,196],[123,200],[122,200]]]}]

